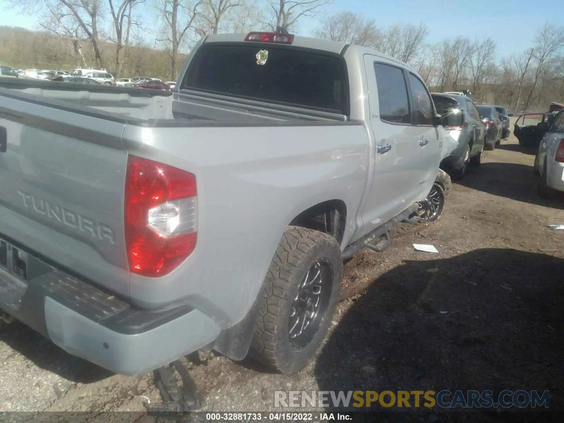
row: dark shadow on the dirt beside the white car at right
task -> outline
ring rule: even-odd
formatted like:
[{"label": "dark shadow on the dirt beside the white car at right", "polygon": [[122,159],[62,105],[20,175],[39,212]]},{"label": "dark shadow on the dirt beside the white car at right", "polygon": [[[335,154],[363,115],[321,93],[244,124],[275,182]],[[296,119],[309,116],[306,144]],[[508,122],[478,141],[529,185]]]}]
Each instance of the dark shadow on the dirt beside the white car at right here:
[{"label": "dark shadow on the dirt beside the white car at right", "polygon": [[564,208],[561,193],[554,199],[539,197],[540,177],[532,173],[532,166],[517,163],[485,162],[479,169],[469,172],[456,183],[508,199],[552,207]]}]

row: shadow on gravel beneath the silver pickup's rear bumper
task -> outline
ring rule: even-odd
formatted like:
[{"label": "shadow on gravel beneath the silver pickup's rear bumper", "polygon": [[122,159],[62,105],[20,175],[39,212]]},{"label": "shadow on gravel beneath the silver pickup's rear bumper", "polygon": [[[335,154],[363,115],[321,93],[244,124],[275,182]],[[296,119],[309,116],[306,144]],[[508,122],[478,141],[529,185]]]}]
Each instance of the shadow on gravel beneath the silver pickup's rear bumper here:
[{"label": "shadow on gravel beneath the silver pickup's rear bumper", "polygon": [[[14,321],[9,325],[0,323],[0,342],[6,343],[15,352],[49,372],[82,384],[90,384],[112,376],[112,372],[78,358],[60,349],[54,343],[29,327]],[[8,355],[9,365],[11,355]]]}]

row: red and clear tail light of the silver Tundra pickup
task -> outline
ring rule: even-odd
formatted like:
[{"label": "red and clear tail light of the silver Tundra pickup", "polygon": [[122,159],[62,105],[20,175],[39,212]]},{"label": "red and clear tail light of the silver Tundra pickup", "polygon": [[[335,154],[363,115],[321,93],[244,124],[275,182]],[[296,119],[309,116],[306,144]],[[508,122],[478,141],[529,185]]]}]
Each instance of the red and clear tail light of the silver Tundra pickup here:
[{"label": "red and clear tail light of the silver Tundra pickup", "polygon": [[129,270],[169,274],[196,247],[196,177],[187,171],[129,156],[125,179],[125,243]]}]

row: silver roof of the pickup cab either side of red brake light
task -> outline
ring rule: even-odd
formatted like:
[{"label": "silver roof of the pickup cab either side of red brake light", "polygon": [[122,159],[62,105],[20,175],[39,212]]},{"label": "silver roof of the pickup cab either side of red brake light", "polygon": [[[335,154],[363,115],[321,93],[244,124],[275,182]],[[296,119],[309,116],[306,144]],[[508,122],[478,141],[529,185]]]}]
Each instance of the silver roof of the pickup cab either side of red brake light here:
[{"label": "silver roof of the pickup cab either side of red brake light", "polygon": [[[261,32],[261,31],[258,31]],[[265,31],[268,32],[268,31]],[[235,33],[235,34],[211,34],[206,36],[202,43],[211,43],[211,42],[244,42],[246,36],[248,36],[248,32],[245,33]],[[276,45],[273,43],[273,45]],[[305,49],[315,49],[315,50],[323,50],[329,51],[336,54],[343,54],[345,48],[347,51],[354,51],[358,55],[363,54],[375,54],[385,58],[387,60],[394,61],[395,63],[401,64],[403,67],[411,70],[412,72],[418,74],[417,70],[411,67],[409,64],[404,63],[401,60],[398,60],[392,56],[384,54],[378,50],[368,49],[368,47],[358,46],[355,44],[347,44],[338,41],[332,41],[331,39],[320,39],[320,38],[312,38],[312,37],[301,37],[301,36],[294,36],[292,46],[296,47],[303,47]]]}]

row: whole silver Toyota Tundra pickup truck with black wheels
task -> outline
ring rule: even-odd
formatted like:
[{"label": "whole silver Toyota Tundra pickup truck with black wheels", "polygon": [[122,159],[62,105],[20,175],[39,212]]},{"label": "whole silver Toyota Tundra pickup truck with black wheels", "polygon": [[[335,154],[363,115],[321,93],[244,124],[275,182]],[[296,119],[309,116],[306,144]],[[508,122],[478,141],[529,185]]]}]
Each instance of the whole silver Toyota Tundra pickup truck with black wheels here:
[{"label": "whole silver Toyota Tundra pickup truck with black wheels", "polygon": [[440,215],[438,118],[405,63],[281,33],[205,37],[174,92],[1,80],[2,317],[122,374],[294,372],[343,260]]}]

